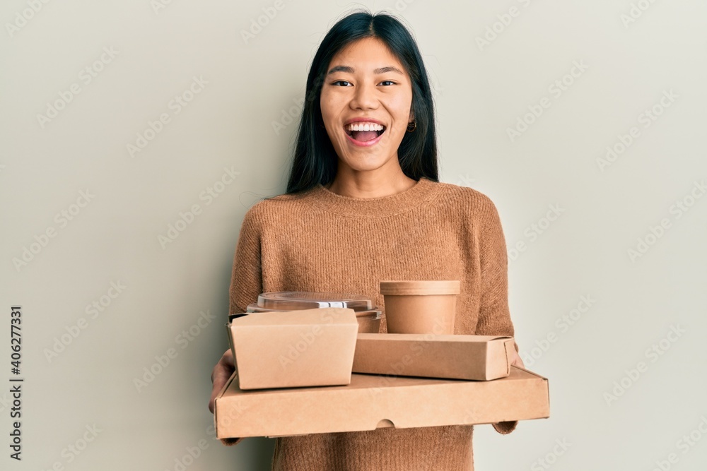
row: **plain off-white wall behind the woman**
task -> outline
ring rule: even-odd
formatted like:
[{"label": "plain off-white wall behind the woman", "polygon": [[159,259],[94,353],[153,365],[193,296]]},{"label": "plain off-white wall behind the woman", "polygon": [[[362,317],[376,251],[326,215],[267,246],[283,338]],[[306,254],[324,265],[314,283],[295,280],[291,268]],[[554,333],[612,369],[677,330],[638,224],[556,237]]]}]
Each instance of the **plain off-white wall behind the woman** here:
[{"label": "plain off-white wall behind the woman", "polygon": [[[550,378],[552,417],[510,436],[477,427],[477,469],[703,469],[707,4],[281,0],[246,42],[273,1],[159,1],[0,7],[0,318],[7,333],[11,304],[23,306],[25,378],[21,463],[4,444],[0,387],[2,469],[177,470],[199,443],[189,470],[269,469],[272,441],[213,440],[209,374],[226,348],[243,214],[284,191],[296,130],[284,116],[298,112],[322,36],[355,6],[414,30],[436,87],[443,180],[489,195],[509,248],[525,243],[511,254],[510,302],[528,366]],[[205,83],[189,96],[194,77]],[[179,109],[182,94],[193,99]],[[38,119],[57,100],[68,103]],[[519,118],[532,124],[512,141]],[[131,155],[137,134],[149,141]],[[620,155],[602,165],[607,146]],[[200,198],[225,169],[235,181]],[[160,244],[192,205],[201,213]],[[561,213],[547,225],[551,205]],[[124,286],[115,299],[112,283]],[[216,320],[198,326],[202,311]]]}]

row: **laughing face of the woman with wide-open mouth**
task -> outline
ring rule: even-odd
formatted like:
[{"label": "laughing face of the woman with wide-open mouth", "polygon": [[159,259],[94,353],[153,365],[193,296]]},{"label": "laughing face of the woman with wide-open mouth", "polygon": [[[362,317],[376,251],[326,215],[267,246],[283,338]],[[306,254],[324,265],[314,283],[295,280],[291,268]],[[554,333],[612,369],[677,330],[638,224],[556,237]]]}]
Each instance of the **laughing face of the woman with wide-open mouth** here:
[{"label": "laughing face of the woman with wide-open mouth", "polygon": [[339,169],[399,167],[397,150],[413,118],[411,104],[407,71],[384,42],[366,37],[341,49],[327,68],[321,95]]}]

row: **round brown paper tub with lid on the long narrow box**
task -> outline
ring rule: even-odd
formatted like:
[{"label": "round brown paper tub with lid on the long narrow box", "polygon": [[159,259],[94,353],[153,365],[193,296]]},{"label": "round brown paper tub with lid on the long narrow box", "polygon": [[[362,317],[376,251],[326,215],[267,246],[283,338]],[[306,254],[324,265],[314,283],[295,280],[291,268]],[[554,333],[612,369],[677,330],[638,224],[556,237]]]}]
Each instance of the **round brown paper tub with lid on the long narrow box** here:
[{"label": "round brown paper tub with lid on the long narrow box", "polygon": [[453,334],[459,281],[382,281],[388,333]]}]

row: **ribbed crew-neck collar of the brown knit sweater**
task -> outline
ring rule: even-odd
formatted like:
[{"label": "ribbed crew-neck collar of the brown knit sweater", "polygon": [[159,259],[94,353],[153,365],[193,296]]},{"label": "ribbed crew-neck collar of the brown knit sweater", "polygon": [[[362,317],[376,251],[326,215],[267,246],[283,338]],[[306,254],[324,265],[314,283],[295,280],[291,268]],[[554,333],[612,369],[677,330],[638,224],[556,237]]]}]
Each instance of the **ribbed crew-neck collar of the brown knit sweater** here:
[{"label": "ribbed crew-neck collar of the brown knit sweater", "polygon": [[401,193],[381,198],[341,196],[320,184],[311,190],[310,201],[330,213],[349,217],[384,217],[426,205],[438,191],[440,186],[425,178],[421,178],[414,186]]}]

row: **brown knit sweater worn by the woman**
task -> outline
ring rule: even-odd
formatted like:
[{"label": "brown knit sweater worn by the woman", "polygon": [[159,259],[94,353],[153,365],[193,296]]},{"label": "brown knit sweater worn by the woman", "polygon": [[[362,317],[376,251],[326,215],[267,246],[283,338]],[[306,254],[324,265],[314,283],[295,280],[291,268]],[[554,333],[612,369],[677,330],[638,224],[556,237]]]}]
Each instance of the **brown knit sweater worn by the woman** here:
[{"label": "brown knit sweater worn by the woman", "polygon": [[[363,199],[317,186],[245,214],[230,312],[245,312],[261,292],[364,294],[383,306],[380,280],[460,280],[455,333],[513,335],[507,267],[496,207],[478,191],[421,179],[402,193]],[[515,424],[493,427],[508,433]],[[279,438],[272,463],[276,471],[473,467],[468,425]]]}]

